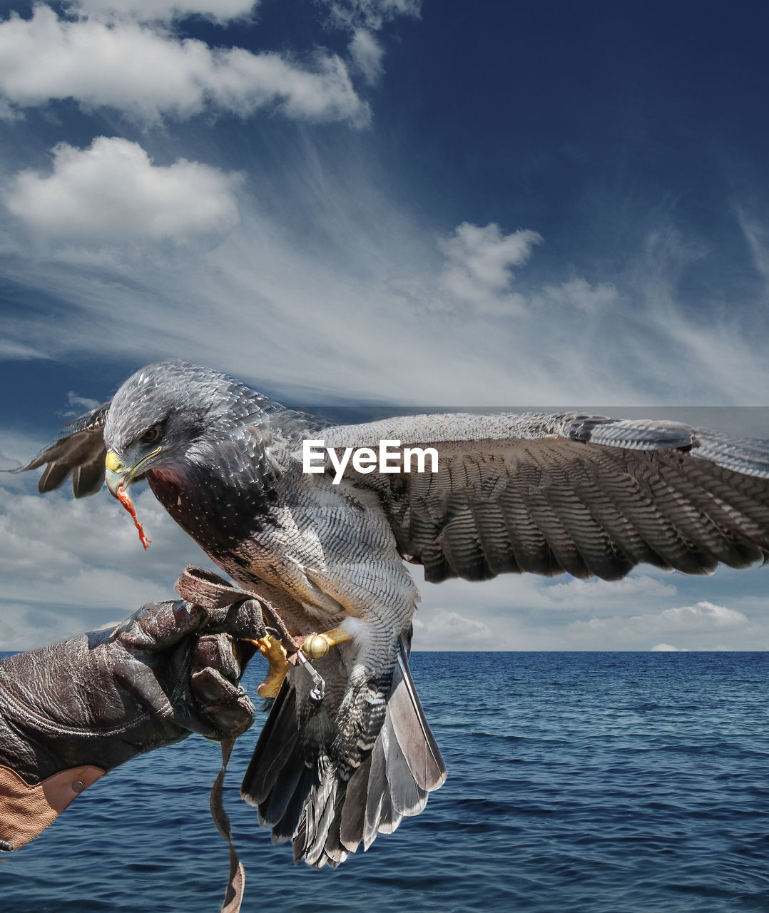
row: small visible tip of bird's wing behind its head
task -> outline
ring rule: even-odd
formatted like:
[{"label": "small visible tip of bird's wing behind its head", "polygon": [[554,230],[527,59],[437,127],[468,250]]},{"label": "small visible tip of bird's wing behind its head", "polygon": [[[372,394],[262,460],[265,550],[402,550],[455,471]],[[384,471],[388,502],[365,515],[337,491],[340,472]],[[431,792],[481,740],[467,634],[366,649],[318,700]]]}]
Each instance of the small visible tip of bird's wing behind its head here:
[{"label": "small visible tip of bird's wing behind its head", "polygon": [[40,494],[59,488],[68,477],[72,477],[72,490],[76,498],[95,495],[104,483],[104,423],[110,404],[80,415],[67,425],[50,444],[34,456],[26,466],[11,469],[10,472],[26,472],[47,463],[37,482]]}]

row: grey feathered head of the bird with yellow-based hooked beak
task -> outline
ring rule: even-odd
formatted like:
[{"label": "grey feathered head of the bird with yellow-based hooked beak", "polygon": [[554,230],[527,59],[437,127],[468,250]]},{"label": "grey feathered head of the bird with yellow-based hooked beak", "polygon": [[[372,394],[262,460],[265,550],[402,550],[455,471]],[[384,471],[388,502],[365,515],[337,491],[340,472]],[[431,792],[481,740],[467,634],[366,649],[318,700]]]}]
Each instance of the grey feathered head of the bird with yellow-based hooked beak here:
[{"label": "grey feathered head of the bird with yellow-based hooked beak", "polygon": [[107,423],[107,488],[117,497],[147,472],[184,472],[191,447],[217,425],[231,378],[184,362],[158,362],[133,374],[115,394]]}]

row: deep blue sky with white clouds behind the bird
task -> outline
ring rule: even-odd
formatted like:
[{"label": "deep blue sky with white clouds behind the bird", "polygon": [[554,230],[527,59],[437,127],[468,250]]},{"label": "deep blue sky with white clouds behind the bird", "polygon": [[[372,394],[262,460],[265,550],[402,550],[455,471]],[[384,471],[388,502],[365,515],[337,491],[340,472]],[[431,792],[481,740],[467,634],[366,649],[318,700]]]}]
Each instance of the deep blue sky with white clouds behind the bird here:
[{"label": "deep blue sky with white clouds behind the bird", "polygon": [[[764,406],[765,26],[683,0],[0,3],[3,465],[161,358],[291,404]],[[761,408],[708,419],[769,436]],[[146,556],[106,494],[0,498],[0,648],[199,560],[147,493]],[[764,648],[764,590],[426,585],[416,643]]]}]

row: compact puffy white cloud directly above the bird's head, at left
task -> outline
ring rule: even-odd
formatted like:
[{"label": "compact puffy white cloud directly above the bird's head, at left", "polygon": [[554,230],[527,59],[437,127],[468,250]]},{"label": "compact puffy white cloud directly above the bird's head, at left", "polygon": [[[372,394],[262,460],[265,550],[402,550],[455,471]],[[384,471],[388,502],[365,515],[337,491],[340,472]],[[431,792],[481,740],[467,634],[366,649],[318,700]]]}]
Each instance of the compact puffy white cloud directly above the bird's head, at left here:
[{"label": "compact puffy white cloud directly above the bird's head, at left", "polygon": [[5,204],[37,236],[69,244],[182,242],[237,224],[238,176],[177,160],[154,165],[136,142],[97,137],[89,149],[61,142],[53,172],[18,173]]}]

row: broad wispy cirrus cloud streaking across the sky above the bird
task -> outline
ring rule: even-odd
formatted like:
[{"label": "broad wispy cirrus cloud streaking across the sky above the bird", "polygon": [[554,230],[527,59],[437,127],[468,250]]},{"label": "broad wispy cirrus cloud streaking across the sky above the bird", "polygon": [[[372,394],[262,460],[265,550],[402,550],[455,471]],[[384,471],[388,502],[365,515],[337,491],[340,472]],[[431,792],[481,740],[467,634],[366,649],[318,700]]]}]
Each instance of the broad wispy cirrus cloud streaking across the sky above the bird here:
[{"label": "broad wispy cirrus cloud streaking across the sky above the bird", "polygon": [[[546,239],[532,246],[520,237],[488,268],[504,277],[500,262],[515,257],[514,280],[501,289],[495,280],[497,291],[481,283],[491,304],[476,309],[443,286],[455,261],[441,259],[436,235],[384,194],[355,183],[300,188],[298,201],[290,184],[245,184],[237,231],[214,247],[148,247],[138,263],[119,247],[95,247],[88,257],[70,251],[66,268],[64,253],[38,254],[36,287],[68,306],[54,321],[18,310],[8,316],[8,338],[68,357],[96,345],[102,357],[135,366],[172,357],[210,363],[294,402],[333,402],[354,391],[395,404],[765,403],[760,312],[746,323],[736,312],[683,307],[669,281],[639,281],[636,264],[612,275],[616,296],[598,308],[543,302],[526,268],[547,254]],[[270,215],[281,206],[302,232],[316,232],[311,247]],[[362,214],[356,219],[353,206]],[[507,237],[494,229],[491,247]],[[28,251],[16,250],[5,275],[28,282]],[[643,253],[636,256],[642,264]],[[600,289],[600,274],[591,279]],[[505,311],[511,295],[513,314]]]}]

